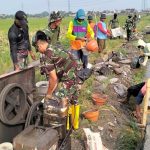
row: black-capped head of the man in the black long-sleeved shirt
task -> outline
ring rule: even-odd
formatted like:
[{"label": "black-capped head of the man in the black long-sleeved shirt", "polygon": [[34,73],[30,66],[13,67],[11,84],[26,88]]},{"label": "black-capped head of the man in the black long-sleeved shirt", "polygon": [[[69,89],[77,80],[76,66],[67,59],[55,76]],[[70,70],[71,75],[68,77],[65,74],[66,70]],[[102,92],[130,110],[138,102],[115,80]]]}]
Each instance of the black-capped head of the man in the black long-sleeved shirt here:
[{"label": "black-capped head of the man in the black long-sleeved shirt", "polygon": [[24,25],[24,24],[27,24],[28,21],[27,21],[27,15],[25,12],[19,10],[16,12],[15,14],[15,19],[19,20],[19,22]]}]

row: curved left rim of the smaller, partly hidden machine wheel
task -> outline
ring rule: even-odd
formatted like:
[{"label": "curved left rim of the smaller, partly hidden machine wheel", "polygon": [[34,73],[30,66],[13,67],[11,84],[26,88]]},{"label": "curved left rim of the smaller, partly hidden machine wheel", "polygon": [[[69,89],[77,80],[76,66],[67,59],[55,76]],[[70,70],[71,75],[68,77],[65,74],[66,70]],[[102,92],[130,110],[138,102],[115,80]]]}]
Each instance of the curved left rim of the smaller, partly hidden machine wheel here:
[{"label": "curved left rim of the smaller, partly hidden machine wheel", "polygon": [[36,101],[32,104],[32,106],[30,107],[30,110],[27,114],[27,118],[26,118],[26,122],[25,122],[25,128],[27,128],[29,125],[31,125],[31,117],[33,115],[33,113],[36,111],[36,108],[38,106],[42,106],[42,102],[41,101]]}]

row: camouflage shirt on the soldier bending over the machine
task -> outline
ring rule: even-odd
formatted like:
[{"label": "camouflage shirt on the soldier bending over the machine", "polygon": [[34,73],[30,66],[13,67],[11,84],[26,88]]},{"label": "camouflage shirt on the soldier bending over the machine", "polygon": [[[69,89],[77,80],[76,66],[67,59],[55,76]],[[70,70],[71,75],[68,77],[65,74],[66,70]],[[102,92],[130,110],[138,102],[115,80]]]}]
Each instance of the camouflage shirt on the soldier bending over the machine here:
[{"label": "camouflage shirt on the soldier bending over the machine", "polygon": [[55,69],[60,81],[76,78],[77,63],[70,53],[61,48],[49,46],[41,57],[41,65],[46,74]]}]

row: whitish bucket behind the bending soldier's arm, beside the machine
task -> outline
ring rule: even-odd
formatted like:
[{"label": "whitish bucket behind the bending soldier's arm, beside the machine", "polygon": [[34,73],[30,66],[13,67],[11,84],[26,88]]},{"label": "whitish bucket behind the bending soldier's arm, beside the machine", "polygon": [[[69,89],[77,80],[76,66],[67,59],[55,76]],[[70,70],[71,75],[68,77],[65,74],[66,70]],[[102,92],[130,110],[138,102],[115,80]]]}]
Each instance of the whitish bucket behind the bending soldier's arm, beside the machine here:
[{"label": "whitish bucket behind the bending soldier's arm, beside the machine", "polygon": [[36,90],[39,96],[45,96],[48,90],[48,81],[39,81],[36,83]]}]

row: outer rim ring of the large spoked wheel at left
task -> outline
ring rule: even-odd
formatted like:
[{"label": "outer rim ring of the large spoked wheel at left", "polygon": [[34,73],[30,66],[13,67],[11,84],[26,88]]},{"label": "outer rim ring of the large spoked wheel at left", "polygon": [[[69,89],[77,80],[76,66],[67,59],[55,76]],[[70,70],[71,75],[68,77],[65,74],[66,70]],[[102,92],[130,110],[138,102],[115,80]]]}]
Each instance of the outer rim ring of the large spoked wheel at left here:
[{"label": "outer rim ring of the large spoked wheel at left", "polygon": [[[5,116],[4,105],[5,105],[5,98],[6,98],[7,94],[13,88],[21,89],[21,91],[23,92],[23,95],[24,95],[24,101],[21,104],[22,107],[20,108],[19,113],[17,113],[17,115],[12,120],[9,120],[7,118],[7,116]],[[4,124],[7,124],[7,125],[19,124],[21,122],[21,120],[23,119],[22,117],[24,116],[26,110],[27,110],[26,92],[23,89],[23,87],[17,83],[11,83],[11,84],[6,85],[0,93],[0,120]]]}]

